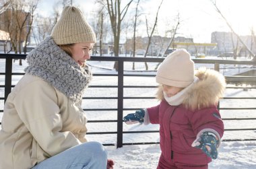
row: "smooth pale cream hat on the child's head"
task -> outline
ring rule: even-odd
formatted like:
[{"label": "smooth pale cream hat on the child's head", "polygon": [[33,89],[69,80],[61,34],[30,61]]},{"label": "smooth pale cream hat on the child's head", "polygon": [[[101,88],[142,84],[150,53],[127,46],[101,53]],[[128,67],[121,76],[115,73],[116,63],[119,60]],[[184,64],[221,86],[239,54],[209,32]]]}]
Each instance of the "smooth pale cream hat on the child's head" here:
[{"label": "smooth pale cream hat on the child's head", "polygon": [[156,73],[156,82],[186,88],[194,81],[194,63],[187,50],[177,49],[164,59]]}]

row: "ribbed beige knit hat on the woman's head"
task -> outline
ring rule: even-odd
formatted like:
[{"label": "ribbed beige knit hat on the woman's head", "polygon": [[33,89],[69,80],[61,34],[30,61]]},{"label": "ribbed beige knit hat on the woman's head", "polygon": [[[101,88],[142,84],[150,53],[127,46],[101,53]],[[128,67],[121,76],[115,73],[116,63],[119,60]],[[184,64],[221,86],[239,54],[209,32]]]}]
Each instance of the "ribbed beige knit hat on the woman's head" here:
[{"label": "ribbed beige knit hat on the woman's head", "polygon": [[96,42],[91,26],[86,22],[82,11],[77,7],[67,6],[51,33],[56,44]]}]

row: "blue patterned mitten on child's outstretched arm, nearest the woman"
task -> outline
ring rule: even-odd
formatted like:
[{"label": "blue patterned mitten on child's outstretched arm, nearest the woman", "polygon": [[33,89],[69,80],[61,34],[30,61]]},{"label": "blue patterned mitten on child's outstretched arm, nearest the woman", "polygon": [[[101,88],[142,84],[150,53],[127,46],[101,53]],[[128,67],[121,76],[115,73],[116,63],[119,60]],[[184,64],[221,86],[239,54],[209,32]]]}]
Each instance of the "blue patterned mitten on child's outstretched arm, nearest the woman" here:
[{"label": "blue patterned mitten on child's outstretched arm, nearest the woman", "polygon": [[144,116],[145,116],[145,111],[143,109],[140,109],[140,110],[136,110],[135,113],[127,114],[127,116],[123,118],[123,121],[125,121],[127,125],[131,125],[135,123],[143,123]]}]

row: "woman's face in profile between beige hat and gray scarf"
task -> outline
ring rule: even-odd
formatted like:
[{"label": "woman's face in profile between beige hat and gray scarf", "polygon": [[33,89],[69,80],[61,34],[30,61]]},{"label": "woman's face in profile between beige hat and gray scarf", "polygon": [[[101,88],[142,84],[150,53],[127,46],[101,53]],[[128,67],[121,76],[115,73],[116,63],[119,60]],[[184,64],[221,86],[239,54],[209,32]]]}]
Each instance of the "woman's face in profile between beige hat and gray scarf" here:
[{"label": "woman's face in profile between beige hat and gray scarf", "polygon": [[71,57],[83,67],[87,59],[90,59],[92,53],[93,42],[76,43],[72,46]]}]

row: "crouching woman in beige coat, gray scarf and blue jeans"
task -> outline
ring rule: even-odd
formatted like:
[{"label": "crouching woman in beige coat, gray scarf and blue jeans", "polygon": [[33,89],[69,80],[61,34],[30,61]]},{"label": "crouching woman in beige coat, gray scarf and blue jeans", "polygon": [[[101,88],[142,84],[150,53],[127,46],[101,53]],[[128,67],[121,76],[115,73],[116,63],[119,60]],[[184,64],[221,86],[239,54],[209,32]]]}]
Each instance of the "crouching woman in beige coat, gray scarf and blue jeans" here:
[{"label": "crouching woman in beige coat, gray scarf and blue jeans", "polygon": [[51,36],[30,52],[26,74],[5,102],[1,169],[106,168],[104,147],[86,142],[81,107],[92,79],[86,60],[95,42],[82,12],[68,6]]}]

